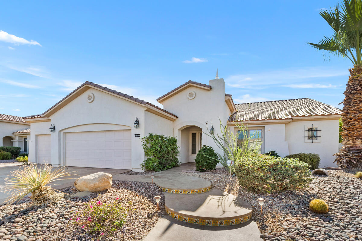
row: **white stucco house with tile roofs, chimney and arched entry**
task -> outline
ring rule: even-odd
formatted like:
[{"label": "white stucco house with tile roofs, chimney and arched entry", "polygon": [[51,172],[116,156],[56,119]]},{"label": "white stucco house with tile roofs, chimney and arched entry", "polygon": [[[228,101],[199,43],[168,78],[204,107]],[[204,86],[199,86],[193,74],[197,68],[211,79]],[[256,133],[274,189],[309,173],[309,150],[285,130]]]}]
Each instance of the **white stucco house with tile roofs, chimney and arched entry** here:
[{"label": "white stucco house with tile roofs, chimney and arched entry", "polygon": [[321,166],[334,165],[341,111],[316,100],[235,105],[225,94],[224,80],[216,78],[209,85],[186,82],[157,101],[164,109],[87,81],[43,114],[24,117],[31,123],[29,160],[142,171],[140,137],[155,133],[176,137],[180,162],[193,162],[202,145],[220,151],[205,134],[211,121],[220,134],[220,119],[235,134],[236,123],[244,121],[249,133],[256,134],[253,141],[262,141],[260,153],[314,152],[321,156]]}]

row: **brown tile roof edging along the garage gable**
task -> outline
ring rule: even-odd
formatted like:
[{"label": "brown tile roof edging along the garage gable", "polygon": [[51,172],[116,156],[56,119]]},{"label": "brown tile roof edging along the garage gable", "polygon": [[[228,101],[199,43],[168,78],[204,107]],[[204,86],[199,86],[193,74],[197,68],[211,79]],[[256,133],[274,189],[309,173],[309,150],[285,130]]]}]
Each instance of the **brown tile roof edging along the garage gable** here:
[{"label": "brown tile roof edging along the garage gable", "polygon": [[144,100],[140,100],[140,99],[135,98],[135,97],[133,97],[133,96],[131,96],[131,95],[123,94],[123,93],[121,93],[121,92],[119,92],[119,91],[115,91],[115,90],[109,89],[109,88],[104,87],[104,86],[101,86],[101,85],[97,85],[97,84],[95,84],[95,83],[93,83],[93,82],[85,81],[83,84],[81,84],[79,87],[77,87],[77,89],[75,89],[75,90],[73,90],[72,92],[70,92],[66,97],[64,97],[63,99],[61,99],[61,100],[60,100],[58,103],[56,103],[54,106],[52,106],[52,107],[50,107],[49,109],[47,109],[47,110],[46,110],[44,113],[42,113],[41,115],[26,116],[26,117],[24,117],[24,119],[34,119],[34,118],[41,118],[41,117],[43,117],[43,115],[44,115],[46,112],[50,111],[52,108],[54,108],[55,106],[57,106],[60,102],[62,102],[62,101],[65,100],[66,98],[68,98],[68,96],[70,96],[71,94],[73,94],[74,92],[76,92],[77,90],[79,90],[79,89],[80,89],[81,87],[83,87],[84,85],[91,85],[91,86],[96,87],[96,88],[98,88],[98,89],[105,90],[105,91],[111,92],[111,93],[113,93],[113,94],[116,94],[116,95],[125,97],[125,98],[127,98],[127,99],[133,100],[134,102],[152,106],[152,107],[154,107],[154,108],[159,109],[160,111],[163,111],[163,112],[165,112],[165,113],[168,113],[169,115],[172,115],[172,116],[178,118],[176,115],[172,114],[171,112],[168,112],[168,111],[166,111],[166,110],[164,110],[164,109],[162,109],[162,108],[160,108],[160,107],[158,107],[158,106],[155,106],[154,104],[151,104],[150,102],[147,102],[147,101],[144,101]]}]

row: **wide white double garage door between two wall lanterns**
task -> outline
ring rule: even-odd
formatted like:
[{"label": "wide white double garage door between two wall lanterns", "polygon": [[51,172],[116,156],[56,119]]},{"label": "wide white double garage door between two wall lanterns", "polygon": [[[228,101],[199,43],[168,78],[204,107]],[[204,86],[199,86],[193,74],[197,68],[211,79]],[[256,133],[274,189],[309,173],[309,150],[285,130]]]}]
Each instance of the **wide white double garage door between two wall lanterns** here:
[{"label": "wide white double garage door between two wall lanterns", "polygon": [[131,130],[68,132],[67,166],[131,169]]}]

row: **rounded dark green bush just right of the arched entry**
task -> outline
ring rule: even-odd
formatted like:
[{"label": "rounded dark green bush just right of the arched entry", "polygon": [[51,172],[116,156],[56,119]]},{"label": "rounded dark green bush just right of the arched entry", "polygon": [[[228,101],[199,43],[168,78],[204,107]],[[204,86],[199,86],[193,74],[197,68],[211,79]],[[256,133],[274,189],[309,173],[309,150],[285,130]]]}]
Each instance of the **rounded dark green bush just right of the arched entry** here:
[{"label": "rounded dark green bush just right of the arched entry", "polygon": [[[205,154],[205,155],[204,155]],[[196,155],[196,171],[215,170],[219,157],[211,146],[202,146]]]}]

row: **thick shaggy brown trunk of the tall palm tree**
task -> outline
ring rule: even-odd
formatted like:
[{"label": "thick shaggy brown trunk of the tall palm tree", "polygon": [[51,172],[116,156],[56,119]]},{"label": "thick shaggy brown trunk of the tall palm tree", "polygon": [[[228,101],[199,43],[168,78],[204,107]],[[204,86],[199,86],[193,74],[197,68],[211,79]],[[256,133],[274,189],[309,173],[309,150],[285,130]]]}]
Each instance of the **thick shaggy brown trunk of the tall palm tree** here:
[{"label": "thick shaggy brown trunk of the tall palm tree", "polygon": [[334,154],[339,167],[362,166],[362,66],[355,65],[349,72],[342,113],[343,147]]}]

